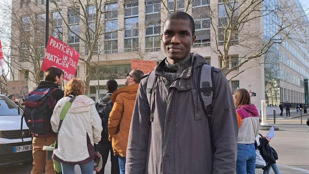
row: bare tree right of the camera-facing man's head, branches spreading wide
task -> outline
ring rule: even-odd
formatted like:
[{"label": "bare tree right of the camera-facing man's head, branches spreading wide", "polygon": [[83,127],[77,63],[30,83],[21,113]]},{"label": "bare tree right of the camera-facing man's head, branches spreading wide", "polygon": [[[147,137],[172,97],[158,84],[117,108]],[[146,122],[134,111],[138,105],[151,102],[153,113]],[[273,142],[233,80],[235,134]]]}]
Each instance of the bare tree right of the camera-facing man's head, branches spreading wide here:
[{"label": "bare tree right of the camera-facing man's head, branches spreading wide", "polygon": [[[222,72],[227,76],[232,71],[242,70],[233,74],[232,80],[249,68],[272,64],[279,61],[277,56],[267,57],[274,46],[284,41],[306,44],[301,37],[295,37],[297,30],[308,26],[307,15],[303,10],[291,3],[275,3],[267,0],[218,0],[217,6],[210,6],[210,0],[161,0],[161,11],[185,11],[196,20],[198,27],[208,26],[206,32],[196,32],[197,38],[204,35],[196,46],[210,46],[218,55]],[[204,6],[203,6],[204,5]],[[298,13],[299,15],[294,15]],[[261,24],[263,21],[268,21]],[[265,31],[265,27],[268,28]],[[263,31],[264,30],[264,31]],[[206,37],[205,37],[206,36]],[[204,44],[203,43],[204,40]],[[200,40],[198,40],[200,41]],[[209,45],[205,43],[209,41]],[[211,45],[210,45],[211,43]],[[231,56],[237,50],[238,55]],[[244,66],[245,65],[245,66]]]}]

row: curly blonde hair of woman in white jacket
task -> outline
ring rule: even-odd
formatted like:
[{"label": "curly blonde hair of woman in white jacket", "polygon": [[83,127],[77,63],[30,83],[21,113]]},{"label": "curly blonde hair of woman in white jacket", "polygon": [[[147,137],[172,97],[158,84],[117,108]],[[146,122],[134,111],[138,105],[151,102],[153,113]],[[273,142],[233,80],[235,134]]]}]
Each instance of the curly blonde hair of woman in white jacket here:
[{"label": "curly blonde hair of woman in white jacket", "polygon": [[64,87],[64,96],[82,95],[86,88],[85,81],[81,78],[71,79]]}]

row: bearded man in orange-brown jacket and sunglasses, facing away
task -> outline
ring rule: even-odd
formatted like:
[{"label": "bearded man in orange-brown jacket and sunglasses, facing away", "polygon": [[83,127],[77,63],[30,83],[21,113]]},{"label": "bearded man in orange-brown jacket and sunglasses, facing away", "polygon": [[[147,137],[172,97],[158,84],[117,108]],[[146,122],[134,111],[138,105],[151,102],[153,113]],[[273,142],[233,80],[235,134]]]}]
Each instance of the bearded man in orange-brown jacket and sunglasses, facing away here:
[{"label": "bearded man in orange-brown jacket and sunglasses, facing away", "polygon": [[116,90],[111,96],[114,106],[109,115],[108,134],[109,141],[112,141],[114,155],[119,154],[118,158],[121,174],[125,174],[129,128],[138,85],[143,75],[144,73],[140,70],[132,70],[127,74],[125,80],[125,84],[128,86]]}]

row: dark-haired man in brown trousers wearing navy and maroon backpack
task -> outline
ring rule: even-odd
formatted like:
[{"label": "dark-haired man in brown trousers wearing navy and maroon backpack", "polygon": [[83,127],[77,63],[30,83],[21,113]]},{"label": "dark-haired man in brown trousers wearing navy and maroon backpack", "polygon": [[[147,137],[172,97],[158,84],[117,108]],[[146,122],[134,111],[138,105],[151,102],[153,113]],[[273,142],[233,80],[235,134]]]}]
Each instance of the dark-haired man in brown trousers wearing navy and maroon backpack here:
[{"label": "dark-haired man in brown trousers wearing navy and maroon backpack", "polygon": [[[36,89],[41,88],[58,88],[61,85],[63,80],[63,71],[56,67],[50,67],[45,72],[44,81],[40,81],[36,86]],[[58,102],[61,98],[63,98],[64,92],[61,89],[56,89],[52,93],[52,98]],[[50,118],[53,114],[53,108],[50,109],[50,112],[44,113],[46,114],[46,120],[44,122],[45,125],[48,125],[49,132],[45,135],[33,134],[33,167],[31,174],[42,174],[45,166],[46,174],[55,174],[53,160],[47,160],[47,151],[43,150],[43,146],[50,146],[56,140],[56,133],[53,132],[52,126],[50,123]],[[43,113],[42,113],[43,114]]]}]

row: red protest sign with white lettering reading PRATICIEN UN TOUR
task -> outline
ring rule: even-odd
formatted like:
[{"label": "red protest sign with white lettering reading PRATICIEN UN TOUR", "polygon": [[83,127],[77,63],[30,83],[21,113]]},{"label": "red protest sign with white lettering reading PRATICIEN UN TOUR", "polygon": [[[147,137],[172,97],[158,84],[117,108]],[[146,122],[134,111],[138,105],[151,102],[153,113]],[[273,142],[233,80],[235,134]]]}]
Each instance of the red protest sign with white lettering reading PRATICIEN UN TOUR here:
[{"label": "red protest sign with white lettering reading PRATICIEN UN TOUR", "polygon": [[49,67],[57,67],[64,72],[65,80],[71,80],[76,72],[78,58],[77,51],[66,43],[49,36],[41,70],[46,72]]}]

